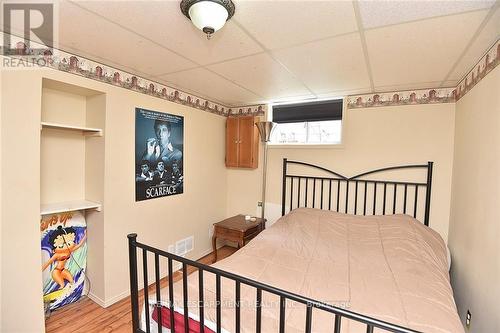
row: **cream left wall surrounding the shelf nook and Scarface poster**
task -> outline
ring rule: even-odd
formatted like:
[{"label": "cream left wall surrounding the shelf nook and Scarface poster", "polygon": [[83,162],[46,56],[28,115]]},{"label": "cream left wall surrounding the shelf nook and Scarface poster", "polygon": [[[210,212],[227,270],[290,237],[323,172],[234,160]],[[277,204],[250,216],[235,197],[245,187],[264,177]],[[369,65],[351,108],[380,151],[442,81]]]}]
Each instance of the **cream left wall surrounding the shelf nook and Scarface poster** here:
[{"label": "cream left wall surrounding the shelf nook and Scarface poster", "polygon": [[[89,244],[95,245],[89,249],[88,260],[93,262],[88,264],[102,267],[102,274],[94,275],[92,293],[101,304],[129,292],[128,233],[136,232],[140,241],[165,250],[193,235],[194,250],[188,256],[197,259],[211,250],[209,227],[226,214],[224,117],[59,71],[3,71],[1,332],[44,331],[39,230],[42,78],[106,94],[103,211],[91,213],[103,214],[104,225],[99,230],[88,225]],[[135,202],[135,107],[185,117],[183,194]],[[71,152],[61,156],[70,158]],[[102,240],[92,242],[96,231]]]}]

